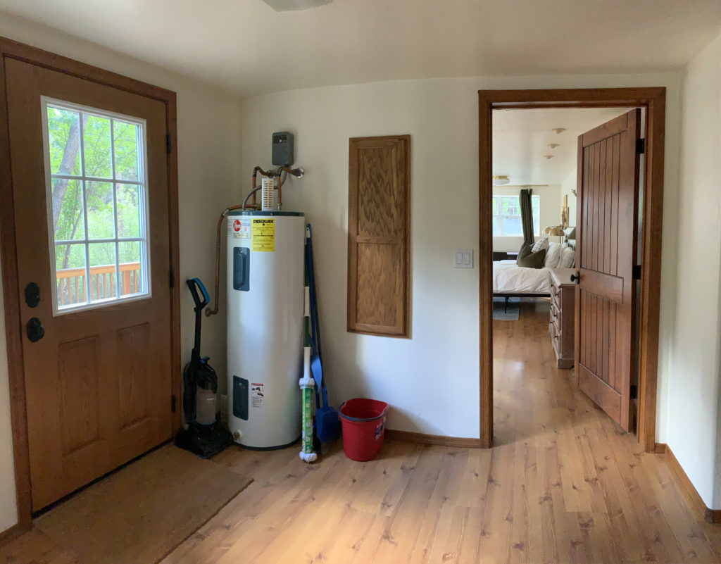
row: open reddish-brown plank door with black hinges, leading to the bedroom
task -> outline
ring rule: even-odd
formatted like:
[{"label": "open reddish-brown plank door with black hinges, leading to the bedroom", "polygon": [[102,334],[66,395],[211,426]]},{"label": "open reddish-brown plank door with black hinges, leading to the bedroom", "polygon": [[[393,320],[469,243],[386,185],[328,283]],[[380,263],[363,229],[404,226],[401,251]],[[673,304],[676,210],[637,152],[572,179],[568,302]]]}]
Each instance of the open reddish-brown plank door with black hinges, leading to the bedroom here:
[{"label": "open reddish-brown plank door with black hinges, leading to the bedroom", "polygon": [[640,110],[578,138],[575,370],[626,431],[631,420]]}]

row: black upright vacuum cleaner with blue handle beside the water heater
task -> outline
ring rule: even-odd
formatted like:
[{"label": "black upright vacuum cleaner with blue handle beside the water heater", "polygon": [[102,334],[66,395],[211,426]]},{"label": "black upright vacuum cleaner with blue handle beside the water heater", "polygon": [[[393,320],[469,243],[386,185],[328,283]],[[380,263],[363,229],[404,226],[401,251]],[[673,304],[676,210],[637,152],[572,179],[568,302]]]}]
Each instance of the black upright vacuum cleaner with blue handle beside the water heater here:
[{"label": "black upright vacuum cleaner with blue handle beside the water heater", "polygon": [[[232,444],[233,436],[216,421],[218,376],[208,364],[208,357],[200,356],[200,326],[203,308],[210,301],[208,291],[198,278],[188,280],[187,287],[195,302],[195,344],[190,354],[190,362],[182,372],[182,408],[187,429],[177,433],[175,445],[201,458],[211,458]],[[203,294],[202,299],[199,290],[200,294]]]}]

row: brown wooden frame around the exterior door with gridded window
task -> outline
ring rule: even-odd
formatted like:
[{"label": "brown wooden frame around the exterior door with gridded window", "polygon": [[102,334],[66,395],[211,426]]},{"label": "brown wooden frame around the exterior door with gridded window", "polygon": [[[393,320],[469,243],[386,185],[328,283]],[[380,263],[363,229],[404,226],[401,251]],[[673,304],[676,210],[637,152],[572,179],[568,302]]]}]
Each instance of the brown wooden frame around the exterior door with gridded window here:
[{"label": "brown wooden frame around the exterior door with gridded window", "polygon": [[[20,288],[17,279],[17,247],[15,238],[15,210],[10,170],[10,138],[6,99],[5,60],[17,59],[45,69],[59,71],[97,84],[140,94],[165,104],[167,135],[170,152],[167,158],[169,252],[170,268],[180,272],[180,246],[178,232],[178,176],[177,176],[177,105],[176,94],[171,90],[153,86],[111,71],[74,61],[42,49],[0,37],[0,221],[2,253],[3,299],[5,305],[5,332],[7,339],[8,377],[10,384],[10,419],[12,424],[13,459],[17,517],[20,529],[32,524],[30,496],[30,454],[27,438],[27,410],[25,400],[25,370],[22,359],[22,324],[20,321]],[[170,288],[170,369],[172,392],[180,398],[180,284]],[[178,401],[180,405],[180,401]],[[181,426],[180,409],[172,417],[173,433]]]}]

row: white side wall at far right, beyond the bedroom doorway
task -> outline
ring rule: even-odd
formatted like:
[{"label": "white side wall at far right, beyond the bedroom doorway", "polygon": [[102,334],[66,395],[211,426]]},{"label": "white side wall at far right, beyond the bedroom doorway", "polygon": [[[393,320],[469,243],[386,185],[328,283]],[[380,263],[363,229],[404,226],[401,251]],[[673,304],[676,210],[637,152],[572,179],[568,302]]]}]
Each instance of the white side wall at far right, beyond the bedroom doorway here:
[{"label": "white side wall at far right, beyond the bedroom doorway", "polygon": [[721,37],[689,63],[682,98],[678,296],[666,442],[704,503],[719,509]]}]

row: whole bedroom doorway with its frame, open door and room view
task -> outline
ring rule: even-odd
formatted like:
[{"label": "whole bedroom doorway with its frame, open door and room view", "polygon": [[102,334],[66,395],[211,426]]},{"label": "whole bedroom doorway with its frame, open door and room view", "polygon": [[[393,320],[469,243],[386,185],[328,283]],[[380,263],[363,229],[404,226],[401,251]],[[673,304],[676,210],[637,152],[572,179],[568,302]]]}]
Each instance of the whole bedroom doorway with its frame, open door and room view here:
[{"label": "whole bedroom doorway with its frame, open door and room view", "polygon": [[[479,103],[481,443],[492,446],[494,409],[496,421],[503,422],[508,410],[532,405],[534,393],[565,394],[559,401],[570,405],[583,390],[624,429],[635,428],[645,450],[653,451],[660,282],[656,234],[663,190],[663,154],[654,153],[653,146],[663,147],[664,91],[482,91]],[[637,123],[639,130],[645,126],[647,139],[644,147],[634,137],[630,156],[619,161],[619,136],[625,133],[609,127],[622,123],[626,131],[627,122]],[[583,139],[592,142],[584,145]],[[643,156],[636,157],[634,171],[629,162],[637,149]],[[631,188],[630,200],[619,196],[627,188],[619,190],[614,170],[631,175],[630,186],[637,175],[639,188],[635,193]],[[576,238],[577,220],[585,243]],[[576,248],[577,240],[582,248]],[[625,254],[617,257],[617,248]],[[604,270],[619,257],[627,279]],[[581,288],[576,286],[579,270]],[[624,281],[628,297],[621,313],[614,306],[616,295],[602,290]],[[636,288],[639,300],[630,309]],[[583,325],[578,325],[580,311]],[[634,315],[637,324],[630,327]],[[629,338],[634,335],[629,343],[598,338],[611,335],[616,319],[629,325]],[[614,368],[621,366],[616,356],[624,355],[637,370],[629,366],[622,382],[614,380]],[[560,388],[559,380],[565,381]],[[497,431],[496,441],[505,442],[504,426]]]}]

